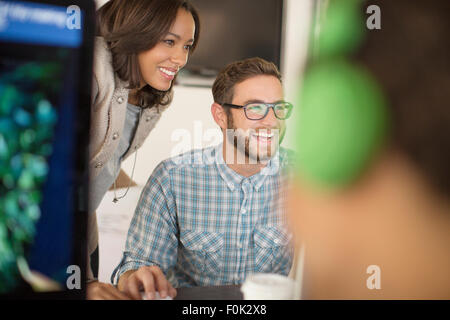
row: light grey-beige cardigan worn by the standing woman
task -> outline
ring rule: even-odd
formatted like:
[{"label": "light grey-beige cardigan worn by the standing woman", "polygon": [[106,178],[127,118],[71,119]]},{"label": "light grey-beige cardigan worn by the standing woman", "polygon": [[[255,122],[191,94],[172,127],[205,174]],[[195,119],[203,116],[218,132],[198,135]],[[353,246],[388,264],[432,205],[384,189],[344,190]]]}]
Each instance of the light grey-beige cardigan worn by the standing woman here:
[{"label": "light grey-beige cardigan worn by the standing woman", "polygon": [[[95,179],[119,145],[123,132],[128,102],[127,83],[120,80],[112,67],[111,51],[102,37],[95,39],[94,77],[92,81],[91,131],[89,143],[89,178]],[[144,143],[150,131],[161,118],[168,106],[156,106],[142,110],[129,151],[123,159],[130,156]],[[88,281],[94,280],[90,268],[89,255],[98,244],[96,214],[88,217]]]}]

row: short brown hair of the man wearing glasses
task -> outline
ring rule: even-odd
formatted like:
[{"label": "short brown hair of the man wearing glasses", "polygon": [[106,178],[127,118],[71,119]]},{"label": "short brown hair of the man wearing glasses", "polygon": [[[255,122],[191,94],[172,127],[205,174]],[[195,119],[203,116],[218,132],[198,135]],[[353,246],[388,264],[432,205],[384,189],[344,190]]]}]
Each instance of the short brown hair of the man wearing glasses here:
[{"label": "short brown hair of the man wearing glasses", "polygon": [[214,102],[231,103],[234,86],[259,75],[274,76],[281,82],[281,74],[275,64],[262,58],[248,58],[228,64],[219,72],[212,86]]}]

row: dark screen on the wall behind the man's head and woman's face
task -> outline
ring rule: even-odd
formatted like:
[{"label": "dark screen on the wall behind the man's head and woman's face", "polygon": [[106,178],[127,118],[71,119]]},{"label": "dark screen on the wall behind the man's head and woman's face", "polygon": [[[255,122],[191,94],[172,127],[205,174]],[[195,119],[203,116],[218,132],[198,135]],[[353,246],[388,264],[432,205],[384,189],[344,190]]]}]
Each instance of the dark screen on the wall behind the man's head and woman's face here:
[{"label": "dark screen on the wall behind the man's head and woman's face", "polygon": [[280,68],[282,0],[192,0],[200,41],[185,69],[214,75],[230,62],[261,57]]}]

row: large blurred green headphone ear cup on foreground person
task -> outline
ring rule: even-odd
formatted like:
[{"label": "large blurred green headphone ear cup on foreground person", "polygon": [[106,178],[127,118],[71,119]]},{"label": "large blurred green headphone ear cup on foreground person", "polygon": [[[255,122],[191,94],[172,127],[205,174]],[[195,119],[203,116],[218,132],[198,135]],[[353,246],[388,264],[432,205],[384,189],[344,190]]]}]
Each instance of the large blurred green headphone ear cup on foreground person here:
[{"label": "large blurred green headphone ear cup on foreground person", "polygon": [[300,175],[324,187],[351,182],[386,133],[385,101],[375,80],[345,61],[314,64],[298,105]]}]

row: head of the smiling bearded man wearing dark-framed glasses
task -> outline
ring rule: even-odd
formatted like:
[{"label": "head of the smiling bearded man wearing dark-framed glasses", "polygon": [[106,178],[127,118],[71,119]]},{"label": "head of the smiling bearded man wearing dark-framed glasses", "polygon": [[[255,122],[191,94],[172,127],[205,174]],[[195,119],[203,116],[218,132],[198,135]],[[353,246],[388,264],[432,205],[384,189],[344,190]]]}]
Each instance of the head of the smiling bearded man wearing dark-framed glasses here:
[{"label": "head of the smiling bearded man wearing dark-framed glasses", "polygon": [[292,110],[283,99],[277,67],[261,58],[230,63],[218,74],[212,93],[211,111],[224,145],[245,155],[246,162],[269,160],[283,140]]}]

